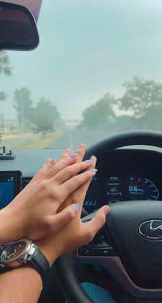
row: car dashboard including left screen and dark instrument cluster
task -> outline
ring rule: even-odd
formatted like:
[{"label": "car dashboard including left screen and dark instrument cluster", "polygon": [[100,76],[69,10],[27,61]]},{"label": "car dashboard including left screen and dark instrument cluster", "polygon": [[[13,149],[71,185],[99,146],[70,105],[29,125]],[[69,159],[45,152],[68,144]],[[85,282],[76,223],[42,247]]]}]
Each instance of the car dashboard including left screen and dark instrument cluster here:
[{"label": "car dashboard including left screen and dark instrument cluster", "polygon": [[[22,190],[47,157],[59,157],[62,150],[17,150],[15,159],[0,160],[0,208]],[[54,155],[51,155],[54,154]],[[121,148],[97,159],[84,200],[91,213],[104,204],[122,201],[162,200],[162,153],[159,150]]]}]

